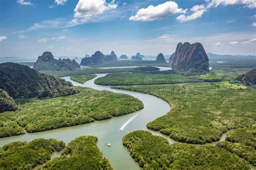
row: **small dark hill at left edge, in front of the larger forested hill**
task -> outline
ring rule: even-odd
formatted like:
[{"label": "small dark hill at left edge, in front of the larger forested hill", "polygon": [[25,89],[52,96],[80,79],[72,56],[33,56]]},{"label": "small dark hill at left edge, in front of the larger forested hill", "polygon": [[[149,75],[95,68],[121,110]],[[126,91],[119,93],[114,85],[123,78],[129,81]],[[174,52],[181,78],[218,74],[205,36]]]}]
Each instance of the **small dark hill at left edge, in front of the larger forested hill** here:
[{"label": "small dark hill at left edge, in front of the larger forested hill", "polygon": [[12,99],[6,91],[0,89],[0,113],[16,110],[18,110],[18,106],[14,99]]}]

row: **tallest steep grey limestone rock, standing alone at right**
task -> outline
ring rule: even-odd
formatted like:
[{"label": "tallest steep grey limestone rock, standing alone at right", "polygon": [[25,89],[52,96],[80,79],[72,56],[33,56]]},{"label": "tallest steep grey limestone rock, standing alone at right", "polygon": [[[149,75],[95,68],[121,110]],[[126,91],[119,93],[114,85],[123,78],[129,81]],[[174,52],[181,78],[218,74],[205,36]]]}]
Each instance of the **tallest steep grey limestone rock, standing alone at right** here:
[{"label": "tallest steep grey limestone rock, standing alone at right", "polygon": [[209,59],[201,43],[179,43],[173,57],[172,69],[209,71]]}]

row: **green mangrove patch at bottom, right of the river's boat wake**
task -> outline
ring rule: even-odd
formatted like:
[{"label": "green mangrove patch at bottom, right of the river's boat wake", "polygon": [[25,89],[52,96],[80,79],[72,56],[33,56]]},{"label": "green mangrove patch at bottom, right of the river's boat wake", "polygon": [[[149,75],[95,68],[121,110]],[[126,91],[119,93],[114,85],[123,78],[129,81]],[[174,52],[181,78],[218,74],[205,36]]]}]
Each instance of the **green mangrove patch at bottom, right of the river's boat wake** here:
[{"label": "green mangrove patch at bottom, right of the river's boat wake", "polygon": [[250,169],[247,161],[217,146],[174,144],[147,131],[123,137],[132,158],[144,169]]}]

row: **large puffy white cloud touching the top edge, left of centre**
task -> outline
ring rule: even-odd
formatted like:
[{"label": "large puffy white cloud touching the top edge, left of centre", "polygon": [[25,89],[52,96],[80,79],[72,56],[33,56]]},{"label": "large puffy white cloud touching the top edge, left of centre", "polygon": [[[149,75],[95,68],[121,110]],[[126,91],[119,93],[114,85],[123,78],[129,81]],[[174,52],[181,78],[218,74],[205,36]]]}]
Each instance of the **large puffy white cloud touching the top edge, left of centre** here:
[{"label": "large puffy white cloud touching the top edge, left of centre", "polygon": [[71,24],[85,23],[92,17],[102,14],[104,11],[116,8],[117,4],[114,1],[107,3],[106,0],[79,0],[74,9],[75,19],[72,19]]}]

